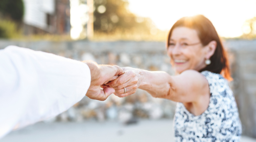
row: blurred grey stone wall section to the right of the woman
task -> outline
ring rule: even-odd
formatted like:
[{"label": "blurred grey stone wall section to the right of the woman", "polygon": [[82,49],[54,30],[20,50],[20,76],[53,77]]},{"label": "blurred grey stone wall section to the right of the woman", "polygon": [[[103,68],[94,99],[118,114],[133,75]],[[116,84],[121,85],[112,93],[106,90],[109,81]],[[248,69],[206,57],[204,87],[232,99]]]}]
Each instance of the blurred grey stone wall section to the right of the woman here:
[{"label": "blurred grey stone wall section to the right of the woman", "polygon": [[243,134],[256,138],[256,40],[227,41]]}]

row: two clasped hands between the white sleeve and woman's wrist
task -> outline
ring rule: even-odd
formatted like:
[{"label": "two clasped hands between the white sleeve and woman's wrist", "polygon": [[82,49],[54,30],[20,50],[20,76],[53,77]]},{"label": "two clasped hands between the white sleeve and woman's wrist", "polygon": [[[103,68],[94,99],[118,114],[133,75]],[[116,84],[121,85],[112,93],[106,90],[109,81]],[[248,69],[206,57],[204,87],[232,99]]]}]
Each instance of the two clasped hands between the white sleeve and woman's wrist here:
[{"label": "two clasped hands between the white sleeve and woman's wrist", "polygon": [[118,97],[126,97],[135,93],[140,85],[140,74],[135,68],[98,65],[93,61],[83,62],[91,71],[91,84],[86,93],[88,98],[104,101],[112,93]]}]

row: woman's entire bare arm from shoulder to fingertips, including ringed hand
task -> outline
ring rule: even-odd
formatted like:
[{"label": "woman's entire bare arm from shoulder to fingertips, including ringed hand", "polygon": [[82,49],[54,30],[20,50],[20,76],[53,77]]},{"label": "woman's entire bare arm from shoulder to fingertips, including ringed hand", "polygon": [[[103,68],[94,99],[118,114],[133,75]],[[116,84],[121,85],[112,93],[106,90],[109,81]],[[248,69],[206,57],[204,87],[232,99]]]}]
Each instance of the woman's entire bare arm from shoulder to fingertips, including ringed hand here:
[{"label": "woman's entire bare arm from shoulder to fingertips, including ringed hand", "polygon": [[[186,70],[177,76],[130,67],[125,67],[123,70],[125,74],[108,84],[116,90],[115,95],[119,97],[131,95],[139,88],[149,92],[153,97],[189,103],[200,101],[201,96],[210,92],[207,80],[194,70]],[[122,93],[124,87],[127,90],[125,94]]]}]

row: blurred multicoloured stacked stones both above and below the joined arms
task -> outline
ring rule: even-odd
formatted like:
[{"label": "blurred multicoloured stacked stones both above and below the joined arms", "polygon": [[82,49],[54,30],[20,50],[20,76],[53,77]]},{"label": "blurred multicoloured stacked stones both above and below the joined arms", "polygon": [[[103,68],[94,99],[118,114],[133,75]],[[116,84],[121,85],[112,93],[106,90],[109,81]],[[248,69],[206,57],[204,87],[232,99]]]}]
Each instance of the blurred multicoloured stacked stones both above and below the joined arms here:
[{"label": "blurred multicoloured stacked stones both above and below the joined arms", "polygon": [[[93,60],[98,64],[116,64],[120,67],[141,68],[151,71],[166,71],[173,74],[169,57],[162,54],[148,53],[98,53],[85,52],[81,60]],[[105,101],[91,100],[84,97],[72,108],[55,118],[55,121],[84,121],[94,119],[97,121],[119,120],[123,123],[135,122],[138,118],[173,118],[175,103],[170,100],[153,98],[146,91],[138,89],[137,92],[125,98],[112,94]]]}]

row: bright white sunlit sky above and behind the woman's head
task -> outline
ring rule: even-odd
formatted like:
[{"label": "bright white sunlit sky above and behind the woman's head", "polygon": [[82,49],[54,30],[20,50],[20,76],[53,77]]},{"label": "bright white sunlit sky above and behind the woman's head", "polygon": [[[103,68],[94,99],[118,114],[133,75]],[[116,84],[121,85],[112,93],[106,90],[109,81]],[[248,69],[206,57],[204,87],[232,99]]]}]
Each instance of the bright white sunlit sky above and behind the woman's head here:
[{"label": "bright white sunlit sky above and behind the woman's head", "polygon": [[246,32],[245,21],[256,16],[256,0],[128,0],[129,10],[149,17],[161,30],[169,30],[184,16],[202,14],[221,37],[233,38]]}]

